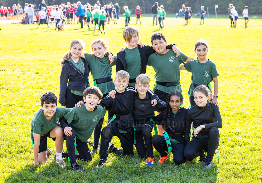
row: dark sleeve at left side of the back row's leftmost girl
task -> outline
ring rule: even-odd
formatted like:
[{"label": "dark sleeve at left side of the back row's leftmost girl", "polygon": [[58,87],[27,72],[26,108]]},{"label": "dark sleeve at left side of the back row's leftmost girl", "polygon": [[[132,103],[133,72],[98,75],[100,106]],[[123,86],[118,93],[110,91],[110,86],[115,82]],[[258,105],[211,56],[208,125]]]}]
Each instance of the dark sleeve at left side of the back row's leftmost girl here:
[{"label": "dark sleeve at left side of the back row's leftmost girl", "polygon": [[68,82],[68,71],[67,67],[64,65],[62,67],[61,75],[60,75],[60,93],[59,93],[59,103],[61,106],[65,106],[65,92],[66,86]]}]

